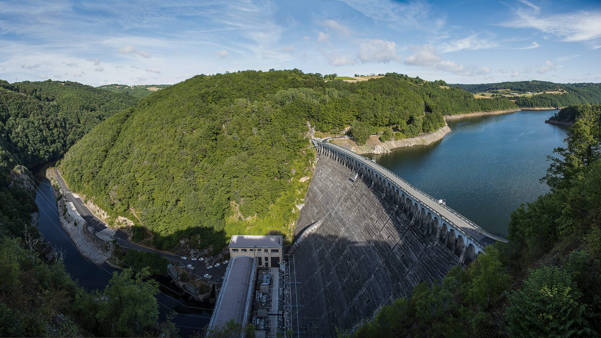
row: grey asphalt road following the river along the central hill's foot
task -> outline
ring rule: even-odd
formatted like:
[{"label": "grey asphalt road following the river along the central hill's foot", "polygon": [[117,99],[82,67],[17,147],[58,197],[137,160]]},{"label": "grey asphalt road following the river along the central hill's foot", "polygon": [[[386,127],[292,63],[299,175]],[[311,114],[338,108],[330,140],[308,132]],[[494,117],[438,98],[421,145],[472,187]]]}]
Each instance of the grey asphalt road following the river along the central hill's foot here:
[{"label": "grey asphalt road following the river along the central hill's foot", "polygon": [[[72,192],[69,189],[69,186],[67,186],[67,183],[65,183],[65,181],[64,181],[63,177],[61,176],[61,174],[59,173],[59,171],[56,170],[56,168],[54,168],[53,171],[54,171],[54,176],[56,177],[56,181],[58,182],[58,185],[61,187],[61,190],[65,192],[65,194],[64,194],[65,198],[67,199],[67,201],[73,203],[73,205],[75,206],[75,209],[77,209],[79,215],[81,215],[81,217],[84,218],[85,221],[87,221],[88,226],[94,227],[94,233],[96,234],[96,233],[101,232],[102,230],[108,229],[108,226],[106,225],[106,223],[104,223],[102,220],[100,220],[100,218],[96,217],[96,215],[94,215],[93,212],[91,212],[91,210],[88,209],[87,206],[85,206],[84,201],[82,201],[81,198],[75,197],[72,194]],[[129,241],[129,235],[127,234],[127,232],[124,232],[121,229],[118,229],[114,233],[114,235],[112,235],[112,238],[117,239],[117,243],[119,245],[121,245],[121,247],[129,248],[129,249],[133,249],[133,250],[145,251],[148,253],[156,252],[156,253],[159,253],[160,256],[163,256],[166,259],[168,259],[169,261],[176,260],[177,262],[180,262],[183,265],[191,264],[192,266],[194,266],[193,273],[195,275],[203,276],[204,274],[210,274],[213,277],[212,280],[215,280],[218,278],[222,279],[225,275],[225,268],[227,267],[227,265],[224,265],[222,262],[220,262],[222,264],[217,267],[207,269],[206,264],[204,262],[201,262],[200,260],[191,260],[191,257],[188,257],[188,259],[183,260],[180,257],[176,257],[172,254],[163,253],[162,251],[152,250],[152,249],[141,247],[140,245],[134,244]]]}]

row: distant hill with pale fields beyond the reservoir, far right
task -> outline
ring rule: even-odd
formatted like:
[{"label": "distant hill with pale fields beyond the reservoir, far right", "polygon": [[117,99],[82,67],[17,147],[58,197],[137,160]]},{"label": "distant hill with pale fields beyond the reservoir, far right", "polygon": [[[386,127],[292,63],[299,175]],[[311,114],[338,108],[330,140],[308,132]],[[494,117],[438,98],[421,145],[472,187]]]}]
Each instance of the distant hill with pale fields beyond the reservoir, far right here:
[{"label": "distant hill with pale fields beyond the reservoir, far right", "polygon": [[523,108],[601,103],[599,83],[558,84],[549,81],[516,81],[451,86],[463,88],[477,94],[478,97],[506,97]]}]

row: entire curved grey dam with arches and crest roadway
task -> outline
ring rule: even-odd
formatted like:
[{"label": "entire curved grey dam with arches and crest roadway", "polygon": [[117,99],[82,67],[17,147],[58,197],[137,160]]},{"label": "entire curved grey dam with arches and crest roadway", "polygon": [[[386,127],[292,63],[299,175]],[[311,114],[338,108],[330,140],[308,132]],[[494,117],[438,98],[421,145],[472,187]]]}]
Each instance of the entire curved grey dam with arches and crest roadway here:
[{"label": "entire curved grey dam with arches and crest roadway", "polygon": [[364,156],[314,139],[317,168],[288,250],[294,337],[352,330],[421,281],[506,241]]}]

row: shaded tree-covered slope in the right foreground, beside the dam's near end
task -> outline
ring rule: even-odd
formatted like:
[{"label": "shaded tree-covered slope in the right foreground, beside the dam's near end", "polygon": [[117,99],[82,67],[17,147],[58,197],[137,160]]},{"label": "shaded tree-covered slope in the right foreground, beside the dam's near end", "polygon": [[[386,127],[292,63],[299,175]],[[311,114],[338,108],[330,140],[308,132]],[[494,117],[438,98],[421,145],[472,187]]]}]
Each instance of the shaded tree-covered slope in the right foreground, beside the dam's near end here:
[{"label": "shaded tree-covered slope in the right foreground, beside the dam's near end", "polygon": [[574,109],[567,146],[543,177],[551,192],[511,214],[508,244],[489,245],[466,269],[418,284],[340,336],[598,337],[601,106]]}]

